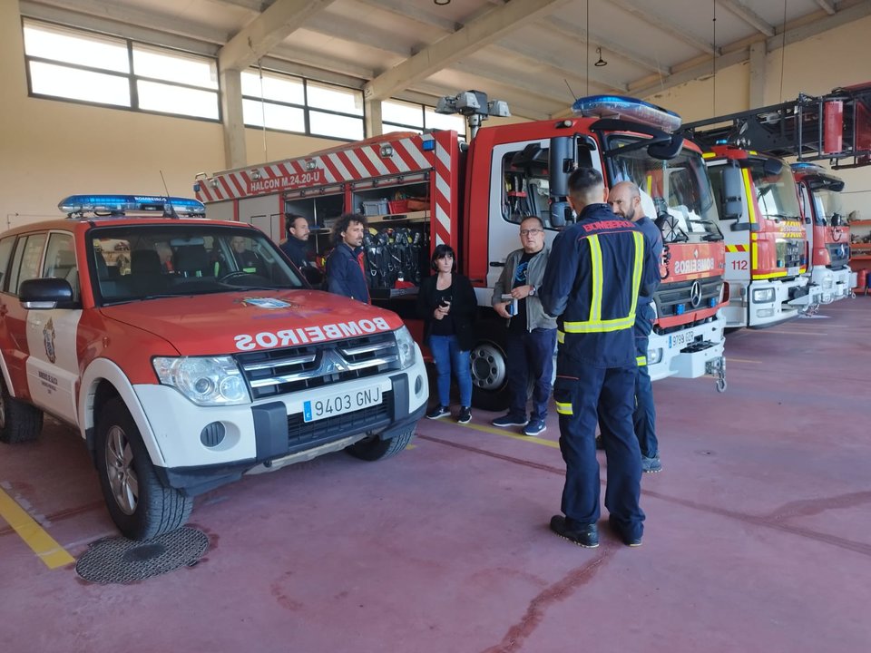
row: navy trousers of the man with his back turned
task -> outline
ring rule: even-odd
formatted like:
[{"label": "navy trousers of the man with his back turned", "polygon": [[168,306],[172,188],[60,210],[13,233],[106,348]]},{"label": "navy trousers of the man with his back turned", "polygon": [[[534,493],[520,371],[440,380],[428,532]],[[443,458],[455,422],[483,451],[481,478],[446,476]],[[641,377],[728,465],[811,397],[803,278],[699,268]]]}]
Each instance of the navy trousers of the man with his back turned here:
[{"label": "navy trousers of the man with his back turned", "polygon": [[[571,527],[599,520],[599,462],[596,422],[611,437],[603,438],[608,462],[605,508],[632,534],[641,535],[641,452],[632,428],[635,369],[579,365],[557,356],[553,400],[560,415],[560,451],[565,461],[563,513]],[[598,411],[597,411],[598,408]]]}]

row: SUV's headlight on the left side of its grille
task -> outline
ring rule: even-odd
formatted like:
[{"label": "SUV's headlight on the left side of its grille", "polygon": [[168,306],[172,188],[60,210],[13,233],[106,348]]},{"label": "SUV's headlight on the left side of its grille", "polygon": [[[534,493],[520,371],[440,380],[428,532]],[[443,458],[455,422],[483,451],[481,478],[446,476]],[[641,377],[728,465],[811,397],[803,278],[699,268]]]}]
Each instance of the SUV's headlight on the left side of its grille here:
[{"label": "SUV's headlight on the left side of its grille", "polygon": [[239,366],[230,356],[158,356],[152,365],[162,385],[171,385],[194,404],[250,402]]}]

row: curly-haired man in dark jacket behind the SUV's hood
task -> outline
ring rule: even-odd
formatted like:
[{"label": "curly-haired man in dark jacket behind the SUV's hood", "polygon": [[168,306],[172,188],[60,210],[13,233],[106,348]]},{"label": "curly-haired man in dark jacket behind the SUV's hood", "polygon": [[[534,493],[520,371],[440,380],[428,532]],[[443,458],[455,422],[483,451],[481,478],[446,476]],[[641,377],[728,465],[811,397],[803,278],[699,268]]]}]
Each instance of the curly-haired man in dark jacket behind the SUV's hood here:
[{"label": "curly-haired man in dark jacket behind the SUV's hood", "polygon": [[333,227],[336,247],[327,259],[327,289],[368,303],[369,288],[362,247],[365,230],[366,218],[359,213],[346,213],[336,221]]}]

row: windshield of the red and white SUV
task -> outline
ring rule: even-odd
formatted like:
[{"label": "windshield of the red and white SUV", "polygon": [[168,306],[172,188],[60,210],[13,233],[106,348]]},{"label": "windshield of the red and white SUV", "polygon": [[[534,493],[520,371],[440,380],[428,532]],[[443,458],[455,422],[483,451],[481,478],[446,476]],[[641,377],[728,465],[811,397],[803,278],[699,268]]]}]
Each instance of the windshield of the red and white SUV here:
[{"label": "windshield of the red and white SUV", "polygon": [[93,288],[102,304],[246,288],[305,288],[263,233],[191,223],[97,227]]}]

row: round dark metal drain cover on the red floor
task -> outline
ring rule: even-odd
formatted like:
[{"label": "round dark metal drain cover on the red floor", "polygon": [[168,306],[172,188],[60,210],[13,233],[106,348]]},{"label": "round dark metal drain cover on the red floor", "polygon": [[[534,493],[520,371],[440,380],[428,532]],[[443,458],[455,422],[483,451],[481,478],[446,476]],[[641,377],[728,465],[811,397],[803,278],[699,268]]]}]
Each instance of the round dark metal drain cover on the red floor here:
[{"label": "round dark metal drain cover on the red floor", "polygon": [[95,541],[75,563],[84,580],[129,583],[190,566],[209,550],[209,536],[184,527],[148,541],[105,538]]}]

